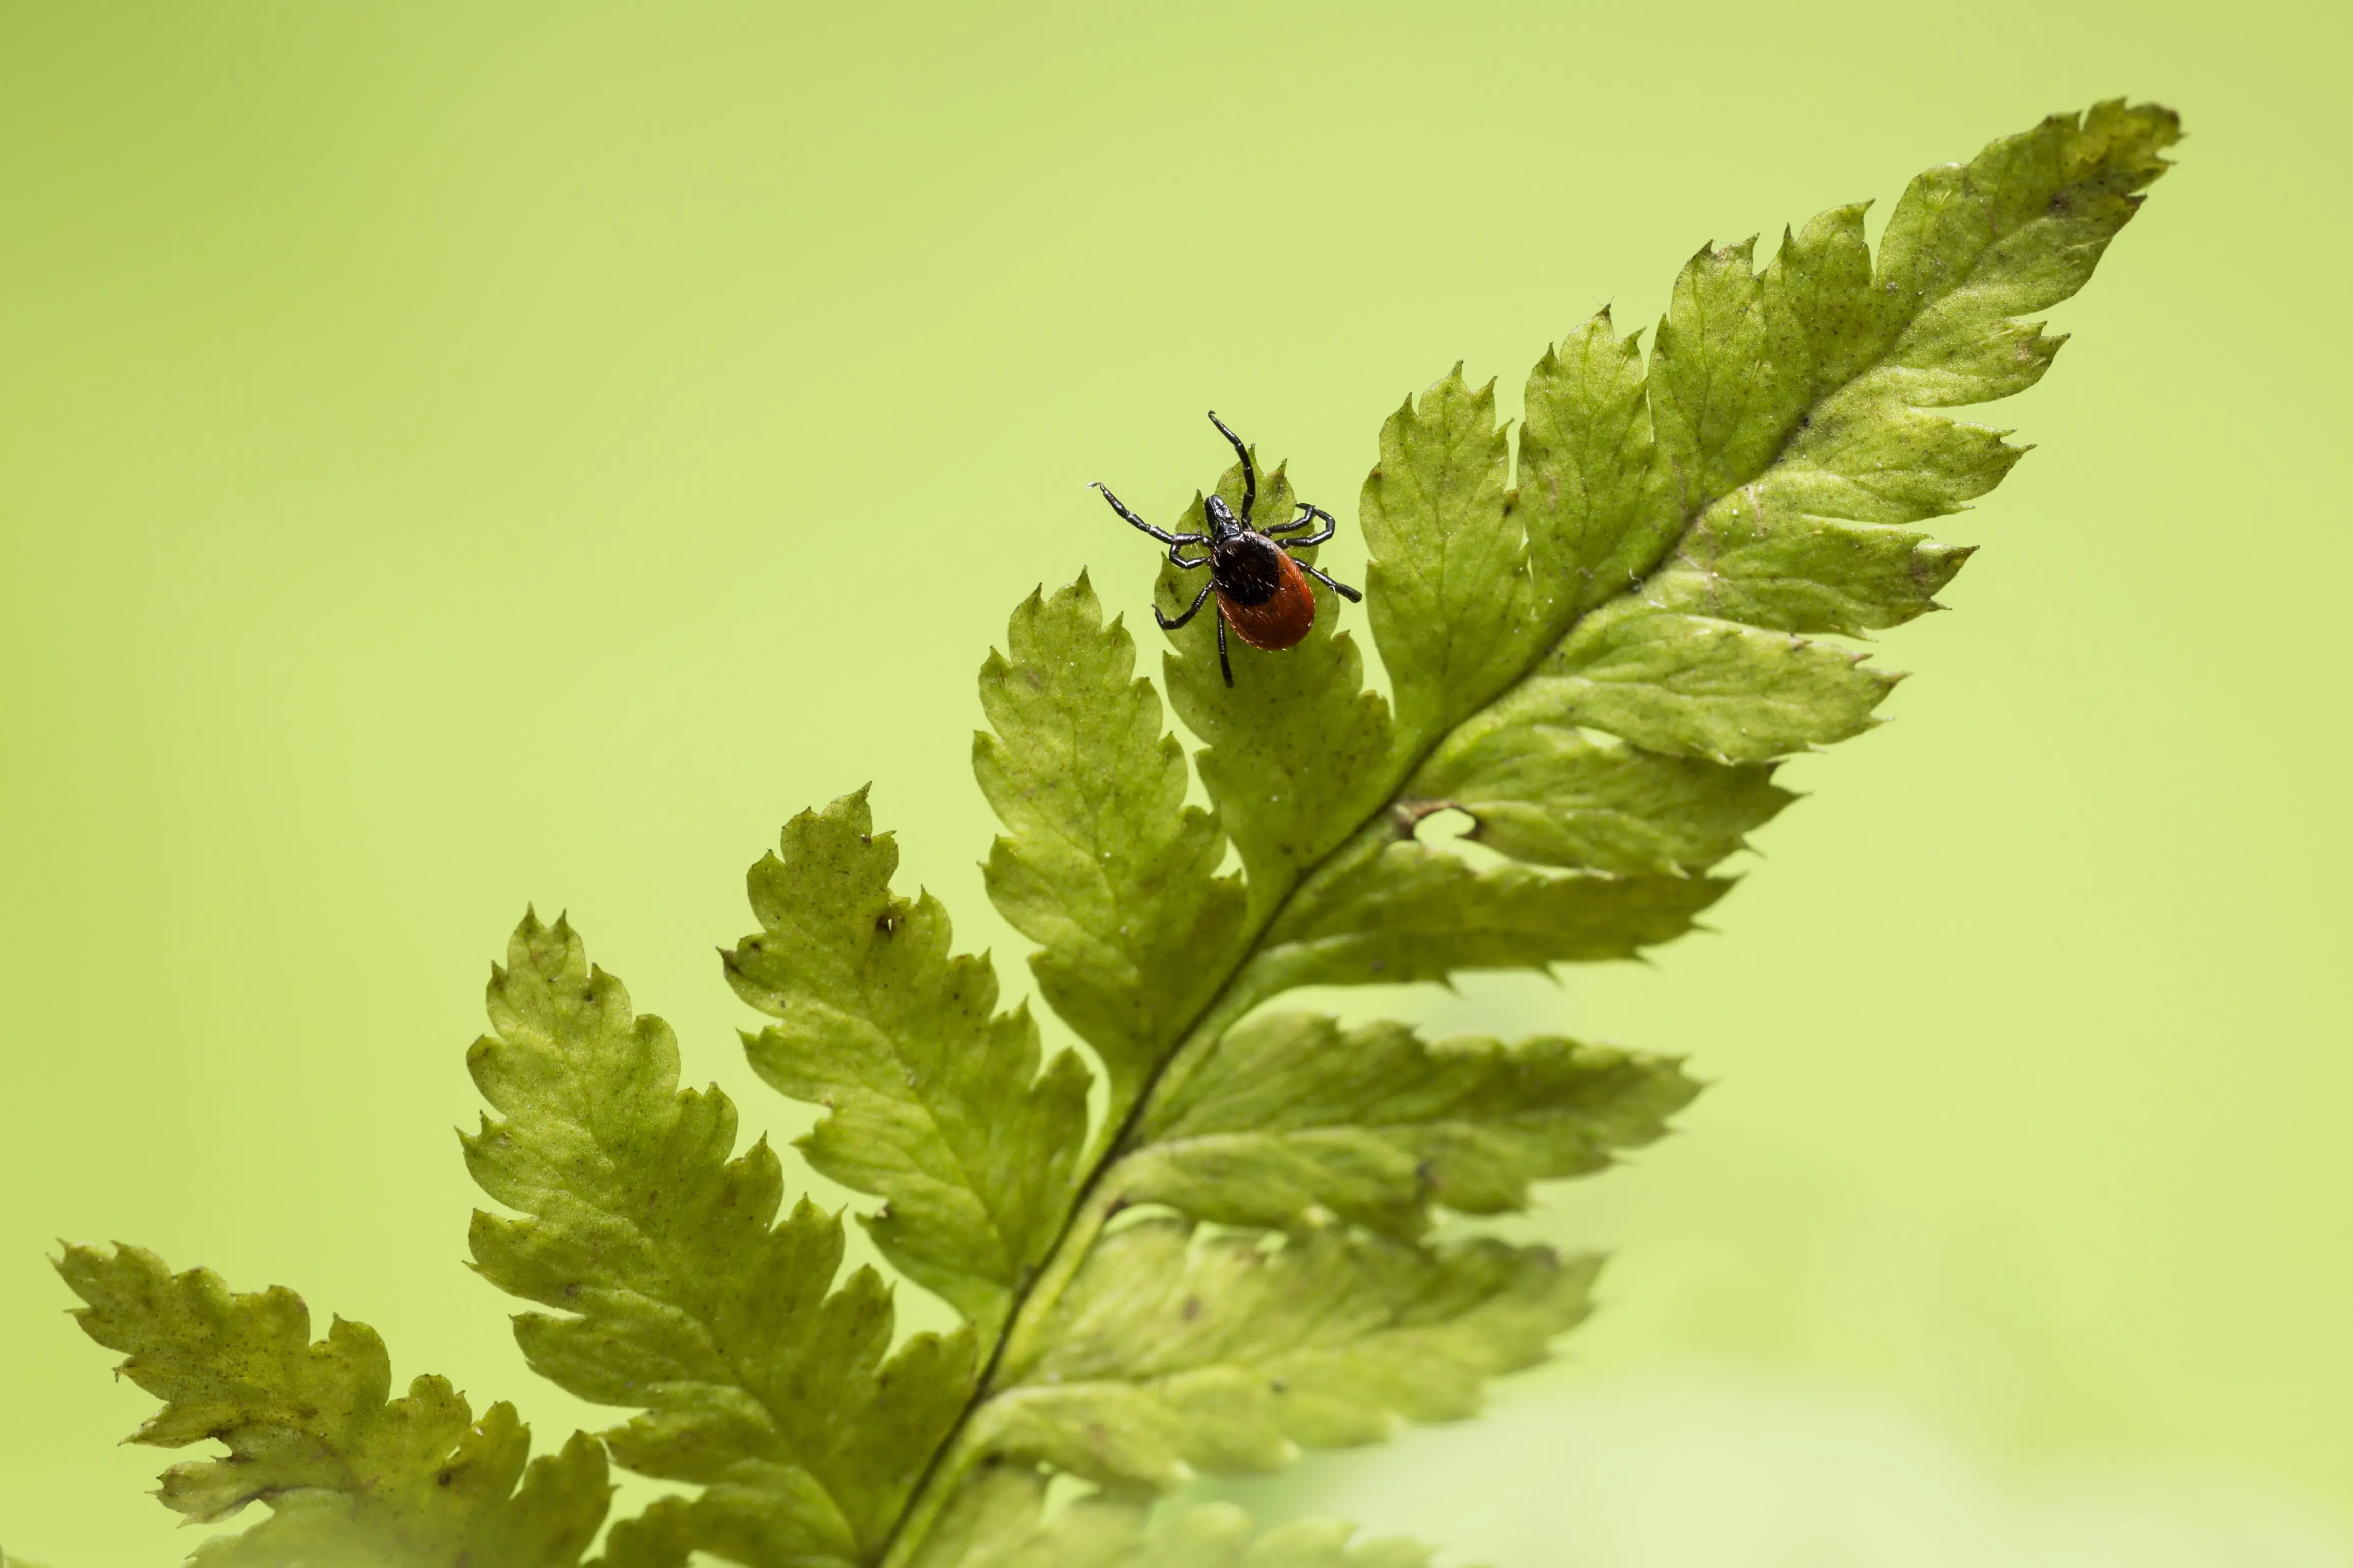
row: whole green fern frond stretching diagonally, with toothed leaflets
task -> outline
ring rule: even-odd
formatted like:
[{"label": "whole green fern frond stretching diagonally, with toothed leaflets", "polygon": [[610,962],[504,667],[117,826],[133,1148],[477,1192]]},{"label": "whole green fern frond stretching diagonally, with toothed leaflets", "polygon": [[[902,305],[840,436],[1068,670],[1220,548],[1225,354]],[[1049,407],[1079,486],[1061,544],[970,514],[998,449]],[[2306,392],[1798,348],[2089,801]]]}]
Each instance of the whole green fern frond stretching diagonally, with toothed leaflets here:
[{"label": "whole green fern frond stretching diagonally, with toothed leaflets", "polygon": [[[842,1274],[838,1215],[784,1204],[765,1140],[678,1081],[659,1018],[525,917],[468,1053],[473,1258],[534,1302],[529,1363],[631,1410],[529,1460],[511,1406],[400,1399],[381,1340],[313,1342],[287,1291],[233,1295],[136,1248],[68,1248],[85,1331],[165,1399],[136,1441],[226,1443],[162,1497],[221,1568],[579,1568],[607,1453],[692,1486],[612,1528],[600,1568],[1424,1568],[1409,1542],[1224,1507],[1148,1526],[1198,1472],[1471,1415],[1591,1309],[1593,1258],[1433,1241],[1666,1131],[1673,1060],[1558,1037],[1424,1041],[1268,1004],[1308,985],[1628,959],[1734,886],[1715,867],[1793,797],[1781,759],[1873,729],[1899,677],[1845,644],[1932,609],[1967,562],[1918,524],[1991,491],[2005,433],[1948,407],[2033,386],[2071,296],[2167,167],[2179,122],[2101,103],[1922,174],[1880,254],[1864,207],[1701,249],[1645,353],[1595,315],[1527,381],[1518,437],[1461,367],[1384,423],[1360,491],[1365,616],[1391,696],[1320,592],[1297,646],[1169,632],[1184,743],[1085,576],[1033,592],[981,668],[974,771],[1005,832],[986,884],[1035,943],[1092,1074],[1049,1060],[986,954],[899,896],[866,795],[805,811],[722,952],[769,1023],[751,1065],[824,1114],[800,1152],[880,1199],[864,1222],[960,1316],[896,1338]],[[1235,505],[1242,470],[1217,487]],[[1285,468],[1261,522],[1294,510]],[[1179,529],[1200,531],[1195,496]],[[1311,557],[1311,552],[1301,552]],[[1174,564],[1169,609],[1200,578]],[[1424,837],[1459,811],[1492,856]],[[1226,870],[1235,851],[1238,872]],[[1094,1490],[1047,1509],[1047,1483]],[[7,1559],[0,1559],[7,1568]]]}]

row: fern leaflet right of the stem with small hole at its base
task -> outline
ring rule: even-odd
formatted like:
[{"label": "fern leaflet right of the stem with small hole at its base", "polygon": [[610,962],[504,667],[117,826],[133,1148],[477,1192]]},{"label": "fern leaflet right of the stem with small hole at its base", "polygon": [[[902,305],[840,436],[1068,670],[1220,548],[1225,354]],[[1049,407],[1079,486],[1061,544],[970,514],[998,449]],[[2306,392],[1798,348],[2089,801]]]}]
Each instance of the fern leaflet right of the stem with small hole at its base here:
[{"label": "fern leaflet right of the stem with small hole at its base", "polygon": [[[1515,860],[1628,877],[1704,872],[1795,799],[1774,764],[1661,757],[1614,736],[1487,710],[1414,776],[1407,813],[1459,806]],[[1426,792],[1426,795],[1421,795]]]}]

